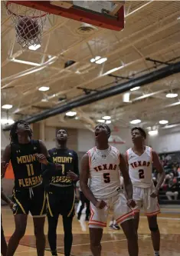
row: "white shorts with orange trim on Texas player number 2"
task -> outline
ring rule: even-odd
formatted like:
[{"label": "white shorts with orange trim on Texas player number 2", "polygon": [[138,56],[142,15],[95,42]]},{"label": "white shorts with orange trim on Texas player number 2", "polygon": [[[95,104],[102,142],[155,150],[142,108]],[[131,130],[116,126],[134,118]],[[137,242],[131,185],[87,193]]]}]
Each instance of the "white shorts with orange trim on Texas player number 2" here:
[{"label": "white shorts with orange trim on Texas player number 2", "polygon": [[136,207],[133,208],[134,213],[138,213],[142,208],[146,216],[153,216],[160,213],[158,198],[151,198],[151,188],[133,187],[133,199],[136,201]]}]

